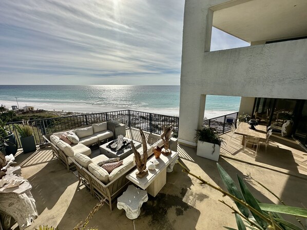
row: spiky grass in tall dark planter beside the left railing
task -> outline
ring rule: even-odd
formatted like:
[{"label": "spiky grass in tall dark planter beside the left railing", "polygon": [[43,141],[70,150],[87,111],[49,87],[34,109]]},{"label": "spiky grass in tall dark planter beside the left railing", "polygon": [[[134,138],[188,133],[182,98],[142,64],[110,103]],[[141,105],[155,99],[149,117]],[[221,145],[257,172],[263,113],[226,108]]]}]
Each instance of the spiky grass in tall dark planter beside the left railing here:
[{"label": "spiky grass in tall dark planter beside the left railing", "polygon": [[24,153],[34,152],[36,150],[36,145],[33,136],[33,129],[29,126],[29,121],[23,121],[23,124],[17,124],[15,128],[20,136]]}]

